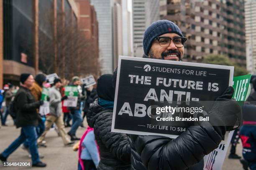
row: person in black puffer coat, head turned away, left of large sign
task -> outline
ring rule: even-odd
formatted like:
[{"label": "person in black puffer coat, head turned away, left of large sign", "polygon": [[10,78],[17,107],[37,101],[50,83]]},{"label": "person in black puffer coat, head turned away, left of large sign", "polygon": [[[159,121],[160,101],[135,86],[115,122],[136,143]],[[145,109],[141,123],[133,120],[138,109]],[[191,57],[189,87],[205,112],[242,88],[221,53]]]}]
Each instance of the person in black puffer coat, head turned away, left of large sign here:
[{"label": "person in black puffer coat, head turned away, left of large sign", "polygon": [[100,148],[97,170],[131,170],[131,148],[127,135],[111,132],[115,96],[112,75],[102,75],[97,82],[99,98],[87,112],[88,125],[94,128],[95,140]]}]

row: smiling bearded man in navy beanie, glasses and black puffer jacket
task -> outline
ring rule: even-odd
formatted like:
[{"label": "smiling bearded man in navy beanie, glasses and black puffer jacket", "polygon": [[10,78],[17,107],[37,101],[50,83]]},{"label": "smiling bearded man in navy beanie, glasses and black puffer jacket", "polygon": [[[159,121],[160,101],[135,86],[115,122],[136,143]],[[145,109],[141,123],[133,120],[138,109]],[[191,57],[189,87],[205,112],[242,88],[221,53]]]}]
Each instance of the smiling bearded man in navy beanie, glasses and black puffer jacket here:
[{"label": "smiling bearded man in navy beanie, glasses and black puffer jacket", "polygon": [[[185,38],[179,27],[169,20],[152,23],[143,38],[143,57],[182,61]],[[114,72],[113,81],[116,81]],[[233,87],[216,99],[209,113],[210,121],[197,122],[190,126],[178,138],[170,139],[156,135],[128,135],[131,145],[132,170],[203,170],[205,155],[218,148],[226,131],[234,126],[213,126],[216,122],[235,125],[241,109],[231,100]]]}]

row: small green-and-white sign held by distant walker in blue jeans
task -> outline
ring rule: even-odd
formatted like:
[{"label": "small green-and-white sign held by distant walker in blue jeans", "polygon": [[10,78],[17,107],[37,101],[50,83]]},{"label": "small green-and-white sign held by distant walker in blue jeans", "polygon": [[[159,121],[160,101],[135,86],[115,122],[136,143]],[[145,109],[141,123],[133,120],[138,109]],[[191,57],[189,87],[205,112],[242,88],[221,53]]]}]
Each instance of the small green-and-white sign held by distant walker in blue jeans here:
[{"label": "small green-and-white sign held by distant walker in blue jeans", "polygon": [[66,107],[77,107],[78,100],[78,89],[75,85],[65,86],[65,95],[68,97],[63,102],[63,106]]}]

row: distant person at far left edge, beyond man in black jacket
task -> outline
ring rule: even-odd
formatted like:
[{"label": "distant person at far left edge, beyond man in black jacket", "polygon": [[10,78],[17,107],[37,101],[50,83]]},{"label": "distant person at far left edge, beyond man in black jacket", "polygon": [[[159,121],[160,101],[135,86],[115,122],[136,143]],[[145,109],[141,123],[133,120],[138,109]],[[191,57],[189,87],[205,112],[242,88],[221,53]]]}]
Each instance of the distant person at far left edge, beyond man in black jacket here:
[{"label": "distant person at far left edge, beyond man in black jacket", "polygon": [[[9,114],[8,108],[9,108],[10,102],[13,98],[13,92],[8,84],[4,85],[3,89],[5,90],[5,93],[4,93],[5,108],[4,108],[4,112],[3,112],[2,125],[6,126],[5,122],[6,122],[8,114]],[[15,120],[13,120],[13,122],[15,123]]]}]

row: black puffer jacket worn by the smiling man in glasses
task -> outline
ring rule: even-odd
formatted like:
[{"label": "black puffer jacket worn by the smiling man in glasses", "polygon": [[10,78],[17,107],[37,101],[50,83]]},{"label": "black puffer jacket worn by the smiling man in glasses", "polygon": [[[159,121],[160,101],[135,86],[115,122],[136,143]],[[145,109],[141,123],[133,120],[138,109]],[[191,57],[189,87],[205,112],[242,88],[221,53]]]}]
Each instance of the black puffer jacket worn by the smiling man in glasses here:
[{"label": "black puffer jacket worn by the smiling man in glasses", "polygon": [[174,140],[164,136],[128,135],[131,169],[203,170],[203,157],[218,147],[221,138],[210,122],[190,126]]}]

